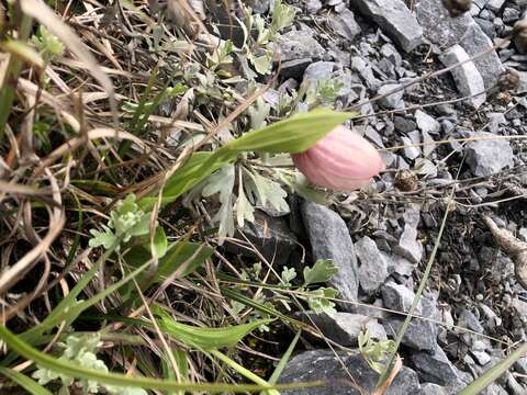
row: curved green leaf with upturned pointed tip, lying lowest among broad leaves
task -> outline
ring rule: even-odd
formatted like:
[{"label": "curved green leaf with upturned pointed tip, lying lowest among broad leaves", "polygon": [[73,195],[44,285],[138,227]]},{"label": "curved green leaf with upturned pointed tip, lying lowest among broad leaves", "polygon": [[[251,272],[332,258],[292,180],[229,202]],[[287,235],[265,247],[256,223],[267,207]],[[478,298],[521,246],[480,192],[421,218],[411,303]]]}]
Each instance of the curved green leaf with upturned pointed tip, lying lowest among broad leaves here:
[{"label": "curved green leaf with upturned pointed tip, lying lowest among broad leaves", "polygon": [[170,335],[173,339],[202,350],[234,347],[260,325],[273,321],[273,319],[259,319],[249,324],[223,328],[206,328],[177,323],[159,307],[155,308],[154,313],[160,317],[158,325],[164,332]]}]

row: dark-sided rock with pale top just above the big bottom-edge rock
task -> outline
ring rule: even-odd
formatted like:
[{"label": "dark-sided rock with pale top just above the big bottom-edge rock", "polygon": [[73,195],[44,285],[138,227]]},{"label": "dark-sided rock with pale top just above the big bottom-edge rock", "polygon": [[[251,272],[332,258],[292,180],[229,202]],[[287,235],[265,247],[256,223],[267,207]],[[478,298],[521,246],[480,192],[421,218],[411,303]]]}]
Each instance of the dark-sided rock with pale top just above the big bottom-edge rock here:
[{"label": "dark-sided rock with pale top just above the big bottom-edge rock", "polygon": [[304,313],[301,319],[309,325],[315,324],[324,336],[345,347],[357,346],[359,334],[366,329],[373,339],[385,340],[388,338],[384,327],[375,318],[360,314],[341,312],[332,315]]}]

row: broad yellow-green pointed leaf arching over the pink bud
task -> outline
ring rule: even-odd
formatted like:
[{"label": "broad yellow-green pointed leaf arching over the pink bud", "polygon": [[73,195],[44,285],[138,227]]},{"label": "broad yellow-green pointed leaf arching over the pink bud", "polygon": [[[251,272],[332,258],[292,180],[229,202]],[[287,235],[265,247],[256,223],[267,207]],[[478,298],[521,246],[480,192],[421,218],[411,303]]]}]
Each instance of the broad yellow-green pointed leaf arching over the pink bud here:
[{"label": "broad yellow-green pointed leaf arching over the pink bud", "polygon": [[328,109],[299,113],[259,131],[246,133],[225,145],[221,150],[227,153],[303,153],[334,127],[354,116],[355,113],[335,112]]}]

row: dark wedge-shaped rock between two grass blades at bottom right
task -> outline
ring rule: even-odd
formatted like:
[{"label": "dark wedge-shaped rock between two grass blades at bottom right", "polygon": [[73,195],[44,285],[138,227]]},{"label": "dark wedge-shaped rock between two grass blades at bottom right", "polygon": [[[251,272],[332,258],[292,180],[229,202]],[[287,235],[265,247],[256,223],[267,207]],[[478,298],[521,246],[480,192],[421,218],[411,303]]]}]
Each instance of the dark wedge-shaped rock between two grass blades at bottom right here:
[{"label": "dark wedge-shaped rock between two grass blades at bottom right", "polygon": [[462,375],[448,360],[447,354],[440,347],[433,354],[425,351],[414,352],[411,354],[411,360],[422,381],[448,387],[459,386],[460,384],[460,386],[464,386],[462,385]]}]

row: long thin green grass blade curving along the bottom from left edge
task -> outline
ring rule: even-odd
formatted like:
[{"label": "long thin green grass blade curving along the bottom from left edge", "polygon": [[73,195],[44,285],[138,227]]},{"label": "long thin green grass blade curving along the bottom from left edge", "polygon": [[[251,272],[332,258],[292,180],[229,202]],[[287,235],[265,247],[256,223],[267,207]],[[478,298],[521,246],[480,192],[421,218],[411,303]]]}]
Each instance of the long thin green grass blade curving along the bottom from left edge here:
[{"label": "long thin green grass blade curving along the bottom from left edge", "polygon": [[12,334],[4,326],[0,326],[0,338],[5,345],[22,357],[37,363],[38,365],[68,375],[85,380],[93,380],[101,384],[139,387],[144,390],[159,391],[189,391],[189,392],[206,392],[215,393],[244,393],[260,392],[264,390],[294,390],[301,387],[322,386],[323,382],[312,383],[294,383],[294,384],[277,384],[269,386],[254,384],[211,384],[211,383],[178,383],[170,380],[158,380],[150,377],[132,377],[125,374],[103,373],[101,371],[85,369],[72,363],[66,363],[53,358],[42,351],[36,350],[19,336]]}]

